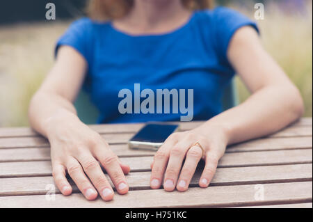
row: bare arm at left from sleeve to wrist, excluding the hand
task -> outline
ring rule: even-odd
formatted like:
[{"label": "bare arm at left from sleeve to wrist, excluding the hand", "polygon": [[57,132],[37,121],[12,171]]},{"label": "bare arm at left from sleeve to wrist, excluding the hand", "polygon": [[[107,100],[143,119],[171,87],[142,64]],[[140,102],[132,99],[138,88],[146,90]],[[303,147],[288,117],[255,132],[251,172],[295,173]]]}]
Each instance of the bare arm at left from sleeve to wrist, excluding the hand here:
[{"label": "bare arm at left from sleeve to wrist, excluding the hand", "polygon": [[[76,65],[70,65],[76,64]],[[61,47],[56,63],[29,106],[31,126],[49,138],[49,122],[77,119],[74,101],[86,72],[86,61],[71,47]]]}]

